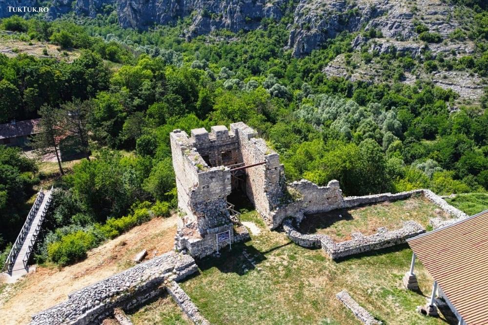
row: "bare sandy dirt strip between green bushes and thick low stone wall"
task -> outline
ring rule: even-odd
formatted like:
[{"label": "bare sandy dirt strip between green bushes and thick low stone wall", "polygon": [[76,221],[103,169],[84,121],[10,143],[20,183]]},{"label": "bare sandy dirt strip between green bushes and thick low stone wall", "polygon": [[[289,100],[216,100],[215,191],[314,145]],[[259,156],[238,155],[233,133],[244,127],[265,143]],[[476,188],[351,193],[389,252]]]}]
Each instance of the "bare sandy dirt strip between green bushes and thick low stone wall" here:
[{"label": "bare sandy dirt strip between green bushes and thick low stone wall", "polygon": [[31,316],[86,287],[134,265],[132,258],[142,249],[148,256],[173,248],[177,216],[153,219],[88,252],[88,258],[62,268],[38,267],[0,295],[0,324],[27,324]]}]

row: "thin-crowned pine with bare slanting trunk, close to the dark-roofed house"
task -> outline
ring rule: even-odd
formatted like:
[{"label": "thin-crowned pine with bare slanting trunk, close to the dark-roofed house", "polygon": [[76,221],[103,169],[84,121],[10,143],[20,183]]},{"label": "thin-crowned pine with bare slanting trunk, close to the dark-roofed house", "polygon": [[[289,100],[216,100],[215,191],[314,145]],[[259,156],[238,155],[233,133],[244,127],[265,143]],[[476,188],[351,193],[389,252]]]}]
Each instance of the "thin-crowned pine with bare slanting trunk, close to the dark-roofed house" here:
[{"label": "thin-crowned pine with bare slanting trunk, close to the dark-roofed house", "polygon": [[55,153],[60,173],[64,175],[59,151],[60,140],[65,136],[65,131],[60,127],[62,111],[43,105],[38,111],[38,114],[41,115],[41,130],[39,134],[34,136],[33,146],[42,154]]}]

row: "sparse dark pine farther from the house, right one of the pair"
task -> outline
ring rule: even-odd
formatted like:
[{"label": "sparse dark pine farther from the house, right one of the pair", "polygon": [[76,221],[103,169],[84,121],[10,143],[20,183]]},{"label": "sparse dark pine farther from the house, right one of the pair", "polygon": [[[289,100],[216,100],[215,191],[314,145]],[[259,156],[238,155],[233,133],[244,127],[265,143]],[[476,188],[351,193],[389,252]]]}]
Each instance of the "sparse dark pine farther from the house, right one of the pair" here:
[{"label": "sparse dark pine farther from the house, right one of the pair", "polygon": [[75,135],[81,144],[81,151],[86,159],[90,160],[90,147],[88,143],[88,116],[93,112],[94,103],[91,100],[81,101],[74,99],[61,105],[61,127],[65,134]]}]

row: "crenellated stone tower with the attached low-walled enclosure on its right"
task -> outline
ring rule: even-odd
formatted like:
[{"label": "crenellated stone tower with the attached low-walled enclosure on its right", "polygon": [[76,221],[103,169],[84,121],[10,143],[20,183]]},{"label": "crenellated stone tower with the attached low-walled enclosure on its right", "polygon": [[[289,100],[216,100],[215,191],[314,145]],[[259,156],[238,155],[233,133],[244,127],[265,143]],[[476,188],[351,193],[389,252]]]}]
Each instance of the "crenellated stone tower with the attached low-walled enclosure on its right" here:
[{"label": "crenellated stone tower with the attached low-walled enclosure on its right", "polygon": [[[344,197],[337,180],[331,180],[327,186],[304,179],[286,183],[278,153],[243,122],[231,124],[230,131],[223,125],[211,127],[210,133],[203,128],[194,129],[190,136],[174,130],[170,141],[181,216],[175,249],[196,258],[249,239],[247,229],[240,226],[238,212],[228,202],[235,192],[247,196],[270,229],[283,225],[293,242],[304,247],[322,247],[331,258],[398,245],[425,229],[415,221],[408,221],[401,229],[382,228],[372,236],[354,233],[353,240],[338,244],[325,235],[301,234],[293,224],[299,224],[308,214],[412,195],[425,196],[455,218],[467,217],[428,190]],[[441,223],[431,220],[434,228]],[[226,240],[220,241],[217,234],[225,233]]]}]

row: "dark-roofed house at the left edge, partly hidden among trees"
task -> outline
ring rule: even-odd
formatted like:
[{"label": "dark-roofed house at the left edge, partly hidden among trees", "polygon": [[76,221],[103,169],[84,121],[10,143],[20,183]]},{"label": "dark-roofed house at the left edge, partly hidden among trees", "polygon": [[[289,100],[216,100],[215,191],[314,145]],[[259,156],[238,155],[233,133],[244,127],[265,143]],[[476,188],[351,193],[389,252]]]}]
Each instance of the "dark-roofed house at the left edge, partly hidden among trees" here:
[{"label": "dark-roofed house at the left edge, partly hidden among trees", "polygon": [[41,119],[34,118],[25,121],[12,120],[0,124],[0,145],[25,147],[31,135],[41,132]]}]

